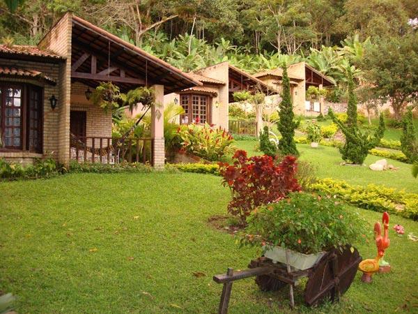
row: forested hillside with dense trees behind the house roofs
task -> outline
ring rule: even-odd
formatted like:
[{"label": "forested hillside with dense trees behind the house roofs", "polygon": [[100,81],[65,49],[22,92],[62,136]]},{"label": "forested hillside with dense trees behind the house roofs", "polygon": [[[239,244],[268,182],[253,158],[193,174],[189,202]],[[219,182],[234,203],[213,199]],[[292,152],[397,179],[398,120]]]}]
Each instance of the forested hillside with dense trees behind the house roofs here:
[{"label": "forested hillside with dense trees behind the house roofs", "polygon": [[[18,6],[10,11],[7,3]],[[338,101],[346,70],[353,66],[357,82],[370,83],[360,96],[393,94],[405,104],[418,80],[416,4],[416,0],[3,0],[0,38],[3,43],[34,45],[65,11],[72,10],[186,71],[226,60],[250,73],[307,61],[335,80],[339,88],[328,97]],[[378,90],[382,84],[385,89]],[[395,95],[399,90],[401,96]]]}]

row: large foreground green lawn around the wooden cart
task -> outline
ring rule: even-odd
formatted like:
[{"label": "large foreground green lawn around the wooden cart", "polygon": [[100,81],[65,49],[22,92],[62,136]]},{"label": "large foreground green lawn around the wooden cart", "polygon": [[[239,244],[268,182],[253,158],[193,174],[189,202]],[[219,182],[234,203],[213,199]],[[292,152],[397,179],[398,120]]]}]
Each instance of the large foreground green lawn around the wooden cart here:
[{"label": "large foreground green lawn around the wooden cart", "polygon": [[[211,175],[68,174],[1,183],[0,194],[0,290],[19,297],[19,313],[216,313],[222,286],[212,276],[258,256],[208,225],[230,197]],[[361,212],[371,224],[380,220]],[[395,223],[418,234],[412,220],[392,216]],[[391,274],[371,285],[357,274],[340,304],[312,310],[298,290],[298,310],[414,311],[417,243],[392,230],[390,237]],[[358,248],[366,258],[376,253],[373,243]],[[252,279],[234,284],[230,313],[273,311],[290,312],[287,290],[260,292]]]}]

